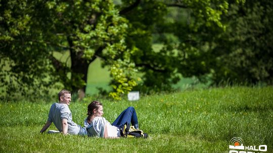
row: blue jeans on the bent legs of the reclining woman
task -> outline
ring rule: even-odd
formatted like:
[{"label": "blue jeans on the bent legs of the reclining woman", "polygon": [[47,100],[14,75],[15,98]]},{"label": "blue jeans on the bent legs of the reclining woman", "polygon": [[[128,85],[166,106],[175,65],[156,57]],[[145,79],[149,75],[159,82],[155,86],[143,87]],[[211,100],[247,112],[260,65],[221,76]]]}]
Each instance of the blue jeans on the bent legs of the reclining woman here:
[{"label": "blue jeans on the bent legs of the reclining woman", "polygon": [[136,112],[133,107],[128,107],[117,117],[117,119],[113,122],[113,126],[120,128],[121,126],[128,123],[132,123],[132,125],[139,124],[138,117],[136,116]]}]

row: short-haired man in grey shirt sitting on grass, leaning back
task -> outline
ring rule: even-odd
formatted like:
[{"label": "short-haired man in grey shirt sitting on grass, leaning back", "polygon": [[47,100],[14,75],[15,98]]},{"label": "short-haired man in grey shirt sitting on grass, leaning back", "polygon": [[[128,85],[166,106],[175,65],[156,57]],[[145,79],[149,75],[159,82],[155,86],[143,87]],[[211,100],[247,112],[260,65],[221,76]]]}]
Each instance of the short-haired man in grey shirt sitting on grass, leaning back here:
[{"label": "short-haired man in grey shirt sitting on grass, leaning back", "polygon": [[40,132],[42,133],[47,130],[53,122],[57,129],[60,132],[63,132],[64,135],[86,135],[86,129],[72,121],[72,114],[68,107],[71,101],[70,91],[65,89],[61,90],[58,97],[59,103],[54,103],[51,105],[48,122],[44,124]]}]

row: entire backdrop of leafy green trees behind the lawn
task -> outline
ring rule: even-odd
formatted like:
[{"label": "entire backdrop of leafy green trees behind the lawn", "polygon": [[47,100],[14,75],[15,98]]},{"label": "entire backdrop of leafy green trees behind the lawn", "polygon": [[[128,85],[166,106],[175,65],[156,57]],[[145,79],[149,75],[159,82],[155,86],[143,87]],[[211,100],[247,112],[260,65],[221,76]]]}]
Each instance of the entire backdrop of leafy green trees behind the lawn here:
[{"label": "entire backdrop of leafy green trees behind the lawn", "polygon": [[[115,99],[139,76],[144,92],[170,90],[181,75],[272,83],[267,1],[11,0],[1,1],[0,13],[4,95],[47,96],[58,82],[84,92],[87,68],[98,57],[110,67]],[[163,47],[153,50],[154,42]],[[71,65],[54,56],[65,51]]]}]

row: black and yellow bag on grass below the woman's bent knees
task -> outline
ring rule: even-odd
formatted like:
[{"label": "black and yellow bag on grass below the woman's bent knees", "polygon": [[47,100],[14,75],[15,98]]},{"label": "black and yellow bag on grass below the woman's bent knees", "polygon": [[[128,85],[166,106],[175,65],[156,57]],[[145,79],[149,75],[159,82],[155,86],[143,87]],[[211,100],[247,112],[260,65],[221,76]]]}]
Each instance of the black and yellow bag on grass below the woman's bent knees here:
[{"label": "black and yellow bag on grass below the woman's bent knees", "polygon": [[140,129],[135,129],[133,126],[130,126],[128,123],[120,128],[120,135],[122,137],[142,137],[148,138],[148,134],[144,133]]}]

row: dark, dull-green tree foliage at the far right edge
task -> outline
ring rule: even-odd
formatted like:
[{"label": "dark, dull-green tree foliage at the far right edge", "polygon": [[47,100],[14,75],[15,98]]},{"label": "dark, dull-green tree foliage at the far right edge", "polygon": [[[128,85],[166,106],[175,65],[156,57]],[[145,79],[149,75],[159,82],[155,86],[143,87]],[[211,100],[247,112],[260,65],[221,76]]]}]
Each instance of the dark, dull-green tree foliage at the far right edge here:
[{"label": "dark, dull-green tree foliage at the far right edge", "polygon": [[217,54],[213,80],[231,82],[264,82],[272,85],[273,78],[273,3],[246,2],[232,5],[224,21],[229,25],[213,45]]}]

